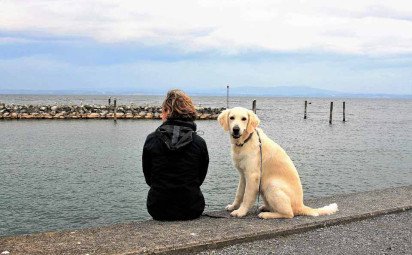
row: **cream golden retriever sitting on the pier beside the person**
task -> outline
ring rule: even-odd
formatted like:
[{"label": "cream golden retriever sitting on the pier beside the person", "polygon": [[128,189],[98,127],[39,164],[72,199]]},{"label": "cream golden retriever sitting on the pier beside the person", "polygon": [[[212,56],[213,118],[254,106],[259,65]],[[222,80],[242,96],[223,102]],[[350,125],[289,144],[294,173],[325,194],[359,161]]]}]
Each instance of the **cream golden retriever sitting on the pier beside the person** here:
[{"label": "cream golden retriever sitting on the pier beside the person", "polygon": [[[330,215],[337,204],[313,209],[303,204],[299,174],[286,152],[257,128],[259,118],[251,110],[235,107],[224,110],[219,124],[230,133],[232,160],[240,174],[235,200],[226,207],[234,217],[243,217],[253,207],[261,185],[264,205],[259,218],[293,218],[295,215]],[[262,176],[259,137],[262,143]]]}]

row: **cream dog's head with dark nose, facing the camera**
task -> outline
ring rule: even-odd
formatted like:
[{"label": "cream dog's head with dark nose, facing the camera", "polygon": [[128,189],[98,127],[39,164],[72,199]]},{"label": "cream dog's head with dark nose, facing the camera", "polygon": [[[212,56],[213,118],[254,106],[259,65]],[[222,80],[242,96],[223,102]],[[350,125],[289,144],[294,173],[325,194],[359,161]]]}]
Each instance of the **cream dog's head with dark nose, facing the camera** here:
[{"label": "cream dog's head with dark nose, facing the camera", "polygon": [[219,114],[217,120],[225,131],[230,132],[234,139],[253,133],[260,123],[259,118],[254,112],[243,107],[224,110]]}]

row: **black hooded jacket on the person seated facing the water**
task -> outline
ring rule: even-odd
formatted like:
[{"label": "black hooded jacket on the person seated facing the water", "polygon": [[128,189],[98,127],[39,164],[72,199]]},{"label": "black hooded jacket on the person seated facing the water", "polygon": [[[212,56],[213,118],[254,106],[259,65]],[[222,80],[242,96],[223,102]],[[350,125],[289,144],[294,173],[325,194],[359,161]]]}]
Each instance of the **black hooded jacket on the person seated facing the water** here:
[{"label": "black hooded jacket on the person seated facing the water", "polygon": [[209,165],[207,146],[192,121],[169,119],[147,136],[143,173],[150,186],[147,209],[155,220],[198,218]]}]

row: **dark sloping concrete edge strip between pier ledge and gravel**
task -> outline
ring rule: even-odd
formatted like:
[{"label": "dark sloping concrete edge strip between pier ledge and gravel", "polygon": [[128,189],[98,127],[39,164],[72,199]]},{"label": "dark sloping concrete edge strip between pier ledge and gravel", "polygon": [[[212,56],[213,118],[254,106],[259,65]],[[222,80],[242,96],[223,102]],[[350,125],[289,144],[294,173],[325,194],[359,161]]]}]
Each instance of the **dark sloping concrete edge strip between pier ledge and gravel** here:
[{"label": "dark sloping concrete edge strip between pier ledge and gravel", "polygon": [[[219,249],[219,248],[223,248],[226,246],[239,244],[239,243],[247,243],[247,242],[259,241],[259,240],[271,239],[271,238],[278,237],[278,236],[287,236],[287,235],[292,235],[292,234],[297,234],[297,233],[304,233],[304,232],[322,228],[322,227],[343,225],[343,224],[347,224],[351,222],[375,218],[381,215],[404,212],[410,209],[412,209],[412,205],[403,206],[403,207],[395,207],[395,208],[390,208],[390,209],[385,209],[385,210],[377,210],[377,211],[363,213],[363,214],[354,215],[354,216],[346,216],[346,217],[335,218],[335,219],[326,219],[320,222],[308,223],[308,224],[303,224],[300,226],[291,226],[289,229],[286,229],[286,230],[266,231],[266,232],[251,234],[251,235],[248,234],[248,235],[244,235],[244,236],[240,236],[236,238],[222,239],[222,240],[219,240],[218,242],[213,241],[213,242],[205,242],[202,244],[193,244],[193,245],[189,244],[189,245],[176,247],[176,248],[164,248],[164,249],[152,250],[152,251],[146,252],[145,254],[182,254],[182,253],[200,252],[200,251],[205,251],[205,250],[210,250],[210,249]],[[136,255],[136,254],[141,254],[141,253],[133,252],[133,251],[122,253],[122,255]]]}]

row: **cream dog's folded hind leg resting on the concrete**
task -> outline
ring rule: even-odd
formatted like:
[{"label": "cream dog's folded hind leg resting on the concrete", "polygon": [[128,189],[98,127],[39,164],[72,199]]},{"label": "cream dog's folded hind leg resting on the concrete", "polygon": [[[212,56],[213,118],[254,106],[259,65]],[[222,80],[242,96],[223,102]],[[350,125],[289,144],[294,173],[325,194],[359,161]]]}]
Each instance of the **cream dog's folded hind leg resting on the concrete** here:
[{"label": "cream dog's folded hind leg resting on the concrete", "polygon": [[282,191],[280,188],[269,187],[266,191],[265,198],[269,207],[270,212],[259,213],[259,218],[261,219],[280,219],[293,218],[293,210],[290,202],[289,196]]}]

